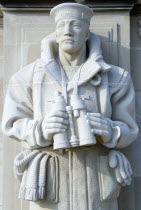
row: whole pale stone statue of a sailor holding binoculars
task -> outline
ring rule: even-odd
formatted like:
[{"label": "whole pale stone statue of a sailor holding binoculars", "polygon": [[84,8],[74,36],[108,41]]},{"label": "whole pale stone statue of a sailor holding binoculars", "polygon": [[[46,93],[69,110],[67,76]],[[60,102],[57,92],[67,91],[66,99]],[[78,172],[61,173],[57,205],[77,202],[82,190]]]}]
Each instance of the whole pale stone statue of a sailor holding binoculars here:
[{"label": "whole pale stone statue of a sailor holding binoculars", "polygon": [[26,149],[14,163],[19,197],[30,210],[116,210],[132,175],[117,149],[138,133],[130,75],[104,62],[92,9],[64,3],[51,16],[55,33],[12,76],[4,105],[3,132]]}]

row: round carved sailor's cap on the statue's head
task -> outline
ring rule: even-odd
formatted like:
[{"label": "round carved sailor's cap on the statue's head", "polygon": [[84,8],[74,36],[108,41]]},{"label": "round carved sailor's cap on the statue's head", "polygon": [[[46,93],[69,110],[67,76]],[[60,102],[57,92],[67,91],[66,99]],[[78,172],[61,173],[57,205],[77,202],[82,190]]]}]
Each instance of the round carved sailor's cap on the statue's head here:
[{"label": "round carved sailor's cap on the statue's head", "polygon": [[94,12],[88,6],[78,4],[78,3],[63,3],[55,6],[51,12],[51,17],[54,19],[55,23],[58,23],[63,19],[78,19],[87,21],[90,23]]}]

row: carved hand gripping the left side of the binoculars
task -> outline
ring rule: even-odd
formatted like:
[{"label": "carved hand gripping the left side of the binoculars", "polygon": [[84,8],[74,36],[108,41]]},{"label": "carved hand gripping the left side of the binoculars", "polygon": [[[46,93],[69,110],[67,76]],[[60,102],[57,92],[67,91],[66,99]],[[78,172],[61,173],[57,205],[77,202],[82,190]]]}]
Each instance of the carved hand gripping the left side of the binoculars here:
[{"label": "carved hand gripping the left side of the binoculars", "polygon": [[65,132],[68,125],[68,115],[62,111],[54,111],[42,122],[42,135],[48,140],[53,134]]}]

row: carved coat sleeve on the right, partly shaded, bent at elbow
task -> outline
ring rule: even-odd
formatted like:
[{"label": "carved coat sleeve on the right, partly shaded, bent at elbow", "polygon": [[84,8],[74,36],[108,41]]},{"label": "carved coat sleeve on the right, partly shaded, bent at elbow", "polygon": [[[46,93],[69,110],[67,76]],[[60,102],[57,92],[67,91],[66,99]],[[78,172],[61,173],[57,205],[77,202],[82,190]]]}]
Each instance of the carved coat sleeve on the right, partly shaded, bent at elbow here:
[{"label": "carved coat sleeve on the right, partly shaded, bent at elbow", "polygon": [[111,142],[103,144],[109,148],[124,148],[138,135],[135,121],[135,92],[131,77],[124,72],[111,98],[112,117],[108,119],[113,128]]}]

